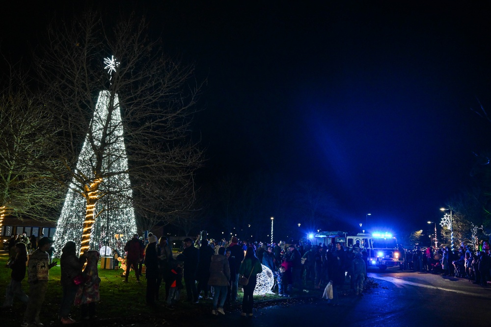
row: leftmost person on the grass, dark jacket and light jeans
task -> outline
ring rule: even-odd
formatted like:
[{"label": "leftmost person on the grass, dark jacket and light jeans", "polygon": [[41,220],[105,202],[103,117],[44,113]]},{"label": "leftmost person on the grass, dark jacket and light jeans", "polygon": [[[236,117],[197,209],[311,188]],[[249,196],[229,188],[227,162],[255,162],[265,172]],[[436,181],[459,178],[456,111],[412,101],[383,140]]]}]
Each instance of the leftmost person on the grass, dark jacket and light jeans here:
[{"label": "leftmost person on the grass, dark jacket and light jeans", "polygon": [[17,243],[14,245],[17,255],[15,259],[8,264],[8,267],[12,269],[10,274],[10,283],[7,285],[5,291],[5,302],[3,302],[3,308],[11,308],[14,304],[14,297],[19,298],[24,303],[29,301],[26,293],[21,288],[21,282],[26,277],[26,262],[27,262],[27,249],[26,244]]}]

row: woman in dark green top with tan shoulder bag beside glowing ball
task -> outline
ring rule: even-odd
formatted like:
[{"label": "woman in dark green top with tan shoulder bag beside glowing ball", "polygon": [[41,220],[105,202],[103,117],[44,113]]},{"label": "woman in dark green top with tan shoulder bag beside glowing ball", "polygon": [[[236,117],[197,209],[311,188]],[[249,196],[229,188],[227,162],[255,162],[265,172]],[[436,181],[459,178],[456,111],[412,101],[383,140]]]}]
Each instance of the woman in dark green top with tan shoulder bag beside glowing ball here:
[{"label": "woman in dark green top with tan shoulder bag beside glowing ball", "polygon": [[242,300],[242,313],[241,316],[253,317],[252,309],[254,307],[254,288],[256,288],[257,274],[263,272],[263,268],[259,259],[254,254],[254,249],[251,247],[247,248],[244,260],[239,268],[239,274],[248,278],[247,285],[244,285],[244,298]]}]

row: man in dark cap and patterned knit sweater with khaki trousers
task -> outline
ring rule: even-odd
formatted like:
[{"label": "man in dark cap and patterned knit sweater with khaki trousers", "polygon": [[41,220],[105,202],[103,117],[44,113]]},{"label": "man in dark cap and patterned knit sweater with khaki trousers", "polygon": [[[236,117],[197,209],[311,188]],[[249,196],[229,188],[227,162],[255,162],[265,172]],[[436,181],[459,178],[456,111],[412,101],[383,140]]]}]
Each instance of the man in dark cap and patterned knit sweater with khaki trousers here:
[{"label": "man in dark cap and patterned knit sweater with khaki trousers", "polygon": [[44,302],[48,280],[50,279],[49,270],[56,266],[54,261],[50,264],[48,250],[51,248],[53,240],[43,237],[39,240],[38,248],[32,252],[27,263],[27,281],[29,282],[29,301],[27,302],[24,321],[21,327],[28,327],[31,324],[42,326],[39,321],[39,312]]}]

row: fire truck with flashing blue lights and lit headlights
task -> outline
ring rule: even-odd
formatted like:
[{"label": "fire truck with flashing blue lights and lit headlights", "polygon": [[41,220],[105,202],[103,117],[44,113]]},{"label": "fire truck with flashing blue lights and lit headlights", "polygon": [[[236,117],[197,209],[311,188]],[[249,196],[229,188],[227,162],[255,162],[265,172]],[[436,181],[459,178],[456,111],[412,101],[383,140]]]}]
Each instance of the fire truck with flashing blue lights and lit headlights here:
[{"label": "fire truck with flashing blue lights and lit headlights", "polygon": [[358,233],[350,235],[343,231],[324,231],[309,235],[313,243],[329,244],[340,242],[346,249],[351,249],[358,242],[361,249],[368,252],[368,266],[379,267],[381,271],[387,267],[404,265],[397,239],[390,233]]}]

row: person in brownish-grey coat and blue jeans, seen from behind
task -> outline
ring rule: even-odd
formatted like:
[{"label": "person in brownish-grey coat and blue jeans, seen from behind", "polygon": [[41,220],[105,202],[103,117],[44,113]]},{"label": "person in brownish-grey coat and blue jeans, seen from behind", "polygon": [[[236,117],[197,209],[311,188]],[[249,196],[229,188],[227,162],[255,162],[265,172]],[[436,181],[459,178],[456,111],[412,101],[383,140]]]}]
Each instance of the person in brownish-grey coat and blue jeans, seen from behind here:
[{"label": "person in brownish-grey coat and blue jeans, seen from behind", "polygon": [[218,315],[218,313],[225,314],[223,304],[225,304],[227,298],[229,280],[230,265],[228,258],[225,256],[225,248],[220,248],[218,249],[218,254],[213,255],[211,258],[210,279],[208,279],[208,285],[213,286],[215,289],[212,310],[214,315]]}]

